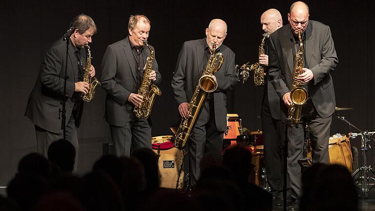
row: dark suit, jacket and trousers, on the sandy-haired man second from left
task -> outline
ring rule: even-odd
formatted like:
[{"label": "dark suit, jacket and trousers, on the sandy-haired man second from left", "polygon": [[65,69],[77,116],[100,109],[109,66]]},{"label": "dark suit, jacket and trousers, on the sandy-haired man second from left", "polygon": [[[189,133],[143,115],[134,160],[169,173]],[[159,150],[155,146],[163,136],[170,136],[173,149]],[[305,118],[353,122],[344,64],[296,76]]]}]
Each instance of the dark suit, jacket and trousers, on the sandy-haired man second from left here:
[{"label": "dark suit, jacket and trousers, on the sandy-haired man second from left", "polygon": [[[150,56],[146,46],[142,55],[146,63],[146,58]],[[118,156],[129,156],[130,148],[151,148],[150,121],[135,117],[134,105],[128,101],[131,93],[138,93],[136,77],[137,71],[140,70],[135,69],[135,63],[128,37],[108,45],[102,61],[103,72],[100,81],[107,92],[105,120],[110,125],[112,141]],[[156,72],[156,81],[153,84],[157,85],[162,77],[155,56],[152,69]]]}]

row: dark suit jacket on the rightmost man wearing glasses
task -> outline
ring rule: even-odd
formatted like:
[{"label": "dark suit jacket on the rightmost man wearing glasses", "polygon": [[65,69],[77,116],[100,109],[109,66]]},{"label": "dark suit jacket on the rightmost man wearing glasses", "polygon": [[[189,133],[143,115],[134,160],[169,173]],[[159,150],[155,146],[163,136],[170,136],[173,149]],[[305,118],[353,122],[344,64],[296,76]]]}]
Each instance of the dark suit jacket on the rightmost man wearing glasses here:
[{"label": "dark suit jacket on the rightmost man wearing glasses", "polygon": [[[314,75],[308,83],[309,95],[319,116],[327,118],[336,106],[330,72],[338,63],[331,30],[321,22],[309,21],[305,32],[305,67],[311,69]],[[281,99],[290,92],[292,85],[293,46],[290,33],[290,25],[284,25],[271,34],[269,41],[270,78]]]}]

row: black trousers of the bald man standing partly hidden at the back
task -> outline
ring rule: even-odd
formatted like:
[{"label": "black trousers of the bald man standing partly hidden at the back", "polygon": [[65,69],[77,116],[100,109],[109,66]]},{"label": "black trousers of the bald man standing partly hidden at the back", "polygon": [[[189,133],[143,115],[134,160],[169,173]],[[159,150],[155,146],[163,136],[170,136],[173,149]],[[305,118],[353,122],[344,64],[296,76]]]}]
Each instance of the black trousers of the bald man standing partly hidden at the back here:
[{"label": "black trousers of the bald man standing partly hidden at the back", "polygon": [[[268,184],[271,188],[270,193],[273,197],[282,198],[284,172],[282,148],[285,146],[285,126],[281,123],[281,120],[272,118],[267,93],[263,98],[261,120],[265,166]],[[290,192],[289,183],[287,190]]]}]

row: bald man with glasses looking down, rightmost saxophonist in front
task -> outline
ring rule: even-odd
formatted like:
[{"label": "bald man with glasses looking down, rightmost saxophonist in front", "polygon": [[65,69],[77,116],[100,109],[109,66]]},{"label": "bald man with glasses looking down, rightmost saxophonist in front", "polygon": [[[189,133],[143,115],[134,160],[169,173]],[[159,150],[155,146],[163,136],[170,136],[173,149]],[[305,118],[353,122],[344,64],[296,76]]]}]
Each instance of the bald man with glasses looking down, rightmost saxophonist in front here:
[{"label": "bald man with glasses looking down, rightmost saxophonist in front", "polygon": [[282,121],[288,116],[291,105],[293,58],[299,48],[298,31],[302,33],[303,74],[298,80],[305,83],[309,92],[302,106],[301,122],[288,126],[288,173],[292,199],[301,197],[301,168],[303,158],[304,125],[310,127],[312,163],[329,163],[328,140],[332,114],[335,108],[333,81],[330,75],[338,63],[330,27],[309,20],[309,7],[301,1],[294,2],[288,14],[289,24],[272,33],[269,41],[269,73],[271,83],[281,98]]}]

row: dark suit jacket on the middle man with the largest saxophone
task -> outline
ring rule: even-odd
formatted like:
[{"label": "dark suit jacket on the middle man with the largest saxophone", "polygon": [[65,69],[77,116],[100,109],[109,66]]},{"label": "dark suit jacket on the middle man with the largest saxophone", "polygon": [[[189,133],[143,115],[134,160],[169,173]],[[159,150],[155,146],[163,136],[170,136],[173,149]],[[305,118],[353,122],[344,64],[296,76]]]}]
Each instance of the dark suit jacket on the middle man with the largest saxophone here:
[{"label": "dark suit jacket on the middle man with the largest saxophone", "polygon": [[[172,79],[174,97],[178,105],[190,102],[199,78],[202,76],[201,71],[206,66],[206,63],[203,63],[205,42],[206,38],[187,41],[182,45]],[[213,93],[213,100],[216,127],[219,131],[224,131],[227,129],[227,91],[237,84],[238,78],[234,52],[224,44],[219,49],[218,52],[224,56],[224,62],[219,71],[214,73],[218,87]]]}]

